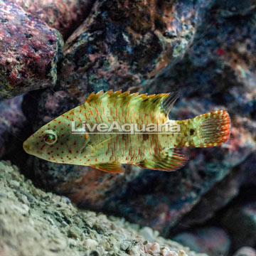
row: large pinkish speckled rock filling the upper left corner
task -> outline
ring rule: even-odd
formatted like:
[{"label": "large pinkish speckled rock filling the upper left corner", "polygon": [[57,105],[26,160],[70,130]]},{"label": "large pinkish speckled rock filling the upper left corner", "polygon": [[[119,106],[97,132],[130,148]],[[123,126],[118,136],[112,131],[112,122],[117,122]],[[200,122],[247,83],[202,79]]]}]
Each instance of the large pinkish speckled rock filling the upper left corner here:
[{"label": "large pinkish speckled rock filling the upper left corner", "polygon": [[0,100],[55,85],[58,31],[11,1],[0,1],[0,16]]}]

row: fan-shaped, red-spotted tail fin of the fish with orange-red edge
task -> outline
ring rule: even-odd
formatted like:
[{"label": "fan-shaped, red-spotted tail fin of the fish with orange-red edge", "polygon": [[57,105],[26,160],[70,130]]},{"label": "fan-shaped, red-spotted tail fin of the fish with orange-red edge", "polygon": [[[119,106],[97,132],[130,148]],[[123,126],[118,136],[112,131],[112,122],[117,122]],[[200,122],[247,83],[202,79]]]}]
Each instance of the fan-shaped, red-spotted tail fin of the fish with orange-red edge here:
[{"label": "fan-shaped, red-spotted tail fin of the fish with orange-red edge", "polygon": [[196,132],[193,138],[194,146],[219,146],[228,141],[230,137],[230,117],[225,110],[200,114],[192,120]]}]

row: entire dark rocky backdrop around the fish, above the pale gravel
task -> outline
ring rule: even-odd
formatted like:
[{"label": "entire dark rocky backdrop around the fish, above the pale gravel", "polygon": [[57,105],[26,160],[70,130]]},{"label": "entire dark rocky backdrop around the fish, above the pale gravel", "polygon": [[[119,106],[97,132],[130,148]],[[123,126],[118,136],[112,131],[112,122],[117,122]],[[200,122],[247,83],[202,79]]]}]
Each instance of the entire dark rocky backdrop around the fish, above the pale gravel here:
[{"label": "entire dark rocky backdrop around the fish, above the pale gravel", "polygon": [[[79,208],[149,226],[196,252],[255,255],[255,42],[255,0],[0,0],[0,157]],[[228,143],[188,149],[181,170],[126,166],[114,175],[23,152],[32,132],[90,92],[177,88],[171,119],[228,110],[232,120]]]}]

